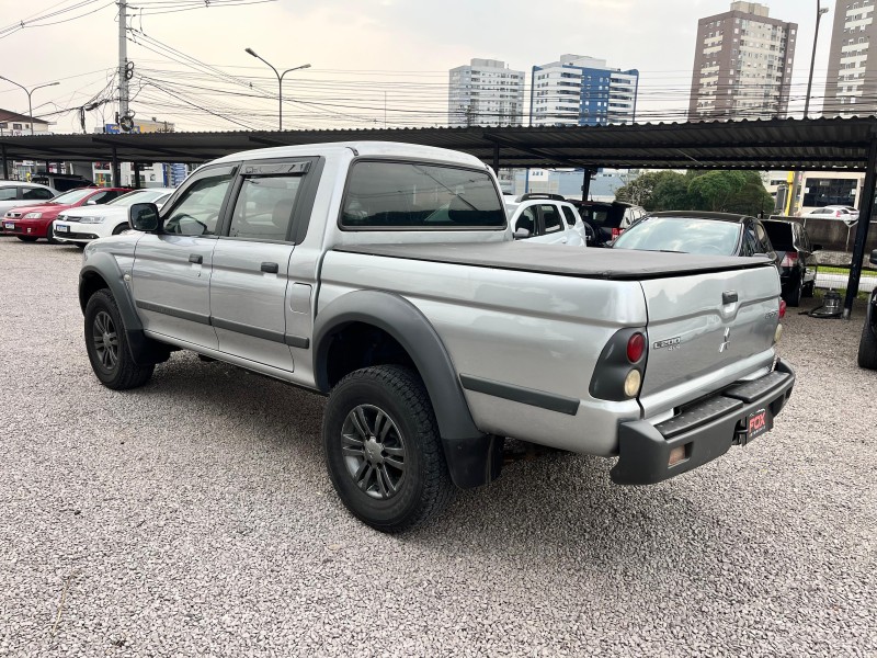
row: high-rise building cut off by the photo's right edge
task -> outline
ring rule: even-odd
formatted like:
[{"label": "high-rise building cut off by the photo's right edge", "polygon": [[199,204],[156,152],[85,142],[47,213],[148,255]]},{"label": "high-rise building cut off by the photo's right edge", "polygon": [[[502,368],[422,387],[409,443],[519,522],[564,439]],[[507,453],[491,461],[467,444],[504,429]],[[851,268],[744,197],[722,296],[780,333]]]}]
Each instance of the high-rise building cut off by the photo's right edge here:
[{"label": "high-rise building cut off by the photo's right edge", "polygon": [[825,116],[877,112],[877,53],[868,47],[872,38],[877,38],[874,0],[838,0],[823,94]]}]

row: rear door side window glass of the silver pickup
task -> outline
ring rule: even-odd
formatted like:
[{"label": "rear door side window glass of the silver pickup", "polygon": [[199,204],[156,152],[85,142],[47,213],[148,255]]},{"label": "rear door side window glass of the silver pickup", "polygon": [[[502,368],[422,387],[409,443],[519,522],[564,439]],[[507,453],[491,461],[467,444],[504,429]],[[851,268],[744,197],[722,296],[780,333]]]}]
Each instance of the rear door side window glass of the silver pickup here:
[{"label": "rear door side window glass of the silver pickup", "polygon": [[247,178],[235,204],[232,238],[286,240],[301,175]]}]

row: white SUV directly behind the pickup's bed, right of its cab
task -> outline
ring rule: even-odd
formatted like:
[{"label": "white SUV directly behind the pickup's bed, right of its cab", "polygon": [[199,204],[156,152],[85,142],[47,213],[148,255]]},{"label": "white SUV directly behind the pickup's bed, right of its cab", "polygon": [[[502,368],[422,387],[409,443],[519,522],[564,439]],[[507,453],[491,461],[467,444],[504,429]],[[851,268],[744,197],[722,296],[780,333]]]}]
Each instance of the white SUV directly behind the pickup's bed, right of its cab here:
[{"label": "white SUV directly behind the pickup's bed, right of its cab", "polygon": [[585,247],[592,238],[576,206],[557,194],[506,197],[505,213],[520,240]]}]

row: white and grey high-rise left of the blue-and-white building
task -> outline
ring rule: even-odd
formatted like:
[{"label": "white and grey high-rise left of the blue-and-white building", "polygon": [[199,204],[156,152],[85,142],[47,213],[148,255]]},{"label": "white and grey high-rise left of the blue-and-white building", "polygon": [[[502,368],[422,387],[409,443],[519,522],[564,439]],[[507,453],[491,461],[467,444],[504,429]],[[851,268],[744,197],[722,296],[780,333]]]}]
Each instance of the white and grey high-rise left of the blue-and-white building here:
[{"label": "white and grey high-rise left of the blue-and-white building", "polygon": [[524,117],[524,71],[498,59],[472,59],[449,71],[447,123],[458,126],[520,126]]}]

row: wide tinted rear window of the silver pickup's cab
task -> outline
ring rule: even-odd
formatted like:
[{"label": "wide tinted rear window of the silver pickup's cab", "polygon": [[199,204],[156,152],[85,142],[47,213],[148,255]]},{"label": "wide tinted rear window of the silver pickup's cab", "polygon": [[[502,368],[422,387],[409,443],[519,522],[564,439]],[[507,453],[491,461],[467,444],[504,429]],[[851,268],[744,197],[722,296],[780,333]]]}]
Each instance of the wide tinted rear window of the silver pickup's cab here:
[{"label": "wide tinted rear window of the silver pickup's cab", "polygon": [[505,212],[483,171],[415,162],[356,162],[341,226],[351,229],[504,228]]}]

